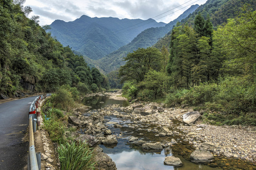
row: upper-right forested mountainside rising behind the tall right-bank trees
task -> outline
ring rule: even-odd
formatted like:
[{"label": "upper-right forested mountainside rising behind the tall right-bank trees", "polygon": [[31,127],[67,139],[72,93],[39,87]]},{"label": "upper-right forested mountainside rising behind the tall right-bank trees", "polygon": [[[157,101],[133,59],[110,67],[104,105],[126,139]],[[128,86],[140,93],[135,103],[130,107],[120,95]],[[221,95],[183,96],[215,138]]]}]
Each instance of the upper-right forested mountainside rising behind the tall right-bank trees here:
[{"label": "upper-right forested mountainside rising behind the tall right-bank trees", "polygon": [[[192,14],[181,21],[182,24],[188,23],[194,25],[194,17],[200,12],[204,19],[209,16],[212,21],[212,25],[219,26],[227,22],[228,18],[233,18],[238,15],[238,11],[244,4],[251,4],[252,7],[256,8],[255,0],[207,0],[205,4],[198,7]],[[161,38],[154,47],[159,50],[163,47],[169,47],[171,41],[171,32]]]}]

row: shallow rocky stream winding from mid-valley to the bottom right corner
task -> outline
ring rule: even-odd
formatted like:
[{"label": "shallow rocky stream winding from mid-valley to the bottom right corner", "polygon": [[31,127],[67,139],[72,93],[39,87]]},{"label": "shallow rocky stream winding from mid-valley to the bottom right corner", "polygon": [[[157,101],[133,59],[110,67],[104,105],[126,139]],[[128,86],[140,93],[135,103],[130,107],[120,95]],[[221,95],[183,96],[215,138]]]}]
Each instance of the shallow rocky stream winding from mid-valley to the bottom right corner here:
[{"label": "shallow rocky stream winding from mid-valley to the bottom right corner", "polygon": [[[254,170],[255,163],[247,163],[243,160],[230,159],[215,156],[209,163],[196,164],[189,161],[189,155],[194,151],[193,144],[185,140],[185,134],[180,130],[183,124],[180,121],[172,120],[170,130],[172,136],[158,136],[161,126],[157,124],[142,122],[131,118],[131,110],[127,108],[128,102],[124,100],[113,100],[106,96],[90,96],[83,100],[83,103],[91,107],[90,112],[104,112],[104,122],[108,129],[115,134],[118,143],[114,145],[100,144],[104,153],[107,153],[115,161],[118,170],[216,170],[216,169],[244,169]],[[115,128],[116,122],[121,127]],[[161,142],[164,149],[161,151],[145,151],[141,146],[129,142],[129,138],[138,137],[138,140],[155,143]],[[171,144],[174,139],[177,144]],[[181,159],[183,166],[173,167],[164,165],[166,156],[174,155]]]}]

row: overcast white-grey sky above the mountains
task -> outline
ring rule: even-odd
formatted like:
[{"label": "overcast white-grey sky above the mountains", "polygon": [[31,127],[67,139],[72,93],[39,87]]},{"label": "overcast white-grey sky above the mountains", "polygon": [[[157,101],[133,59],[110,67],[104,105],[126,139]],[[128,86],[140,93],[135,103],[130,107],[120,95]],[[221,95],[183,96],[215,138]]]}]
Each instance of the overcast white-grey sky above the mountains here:
[{"label": "overcast white-grey sky above the mountains", "polygon": [[[30,6],[33,9],[29,17],[39,16],[39,24],[42,26],[50,25],[56,19],[73,21],[82,15],[118,17],[119,19],[153,18],[158,22],[169,23],[191,5],[201,5],[205,2],[206,0],[26,0],[24,6]],[[156,17],[162,13],[165,14]]]}]

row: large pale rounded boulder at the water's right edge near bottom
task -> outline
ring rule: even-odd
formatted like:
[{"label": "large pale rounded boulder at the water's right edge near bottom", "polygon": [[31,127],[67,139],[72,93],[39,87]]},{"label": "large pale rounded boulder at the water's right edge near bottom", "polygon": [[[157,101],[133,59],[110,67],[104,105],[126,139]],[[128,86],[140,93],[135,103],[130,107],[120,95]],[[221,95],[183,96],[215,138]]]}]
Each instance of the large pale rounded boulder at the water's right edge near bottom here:
[{"label": "large pale rounded boulder at the water's right edge near bottom", "polygon": [[190,155],[190,160],[193,162],[208,162],[213,159],[212,153],[206,151],[205,149],[196,149]]}]

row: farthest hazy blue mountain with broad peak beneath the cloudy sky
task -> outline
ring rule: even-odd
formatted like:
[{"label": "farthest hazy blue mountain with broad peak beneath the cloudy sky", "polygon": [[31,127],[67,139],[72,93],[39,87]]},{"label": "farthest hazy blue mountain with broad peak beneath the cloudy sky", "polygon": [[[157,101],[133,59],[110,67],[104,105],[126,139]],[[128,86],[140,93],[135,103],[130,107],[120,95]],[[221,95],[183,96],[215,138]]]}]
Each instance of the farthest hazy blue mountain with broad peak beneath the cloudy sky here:
[{"label": "farthest hazy blue mountain with broad peak beneath the cloudy sky", "polygon": [[55,20],[48,32],[64,46],[69,45],[90,59],[101,59],[131,42],[141,31],[165,25],[153,19],[91,18],[83,15],[71,22]]}]

